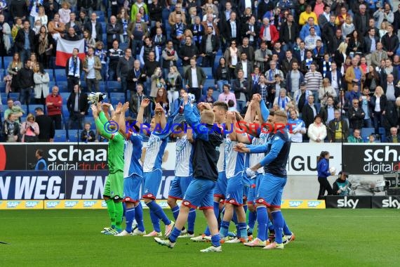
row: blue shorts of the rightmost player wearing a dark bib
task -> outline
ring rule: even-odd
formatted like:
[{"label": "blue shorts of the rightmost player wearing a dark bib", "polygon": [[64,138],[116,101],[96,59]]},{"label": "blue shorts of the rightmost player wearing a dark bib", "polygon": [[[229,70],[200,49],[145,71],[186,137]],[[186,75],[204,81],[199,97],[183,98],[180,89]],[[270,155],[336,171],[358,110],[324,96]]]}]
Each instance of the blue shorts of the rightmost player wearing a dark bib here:
[{"label": "blue shorts of the rightmost player wearing a dark bib", "polygon": [[256,202],[267,207],[280,208],[286,181],[286,177],[264,174],[258,186]]}]

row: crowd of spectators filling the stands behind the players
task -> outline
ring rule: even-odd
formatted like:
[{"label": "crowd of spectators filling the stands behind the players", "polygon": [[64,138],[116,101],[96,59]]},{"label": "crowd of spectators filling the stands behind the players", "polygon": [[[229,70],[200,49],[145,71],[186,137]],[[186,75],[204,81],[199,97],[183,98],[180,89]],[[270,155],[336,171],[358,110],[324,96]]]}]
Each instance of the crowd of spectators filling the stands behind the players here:
[{"label": "crowd of spectators filling the stands behind the players", "polygon": [[[7,97],[2,138],[52,140],[32,114],[18,123],[33,100],[53,129],[66,104],[66,128],[93,141],[85,92],[117,81],[133,118],[143,98],[174,112],[182,90],[241,113],[260,93],[268,108],[288,112],[295,142],[396,143],[399,28],[400,5],[387,0],[11,0],[0,11],[0,56],[13,56],[5,93],[19,92],[20,105]],[[46,73],[59,39],[85,42],[85,60],[74,50],[65,68],[67,99]],[[363,129],[372,131],[362,138]]]}]

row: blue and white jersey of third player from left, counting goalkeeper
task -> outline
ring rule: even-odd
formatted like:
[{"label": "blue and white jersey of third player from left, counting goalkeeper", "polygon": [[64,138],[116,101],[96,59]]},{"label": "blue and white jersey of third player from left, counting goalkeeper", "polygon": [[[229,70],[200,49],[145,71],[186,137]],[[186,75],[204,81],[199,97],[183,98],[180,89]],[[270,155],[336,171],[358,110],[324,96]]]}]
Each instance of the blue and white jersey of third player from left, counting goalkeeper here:
[{"label": "blue and white jersey of third player from left, counting goalkeeper", "polygon": [[146,144],[146,156],[143,163],[143,172],[150,172],[156,169],[161,170],[164,151],[168,143],[168,137],[161,139],[157,133],[151,133]]}]

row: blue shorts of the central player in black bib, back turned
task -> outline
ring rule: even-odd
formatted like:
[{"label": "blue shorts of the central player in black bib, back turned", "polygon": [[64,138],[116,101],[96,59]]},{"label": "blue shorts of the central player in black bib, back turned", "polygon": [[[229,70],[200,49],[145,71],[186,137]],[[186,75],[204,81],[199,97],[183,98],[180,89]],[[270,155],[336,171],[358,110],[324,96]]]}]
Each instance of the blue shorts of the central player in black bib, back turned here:
[{"label": "blue shorts of the central player in black bib, back turned", "polygon": [[187,187],[182,204],[196,209],[213,209],[215,182],[206,178],[193,178]]}]

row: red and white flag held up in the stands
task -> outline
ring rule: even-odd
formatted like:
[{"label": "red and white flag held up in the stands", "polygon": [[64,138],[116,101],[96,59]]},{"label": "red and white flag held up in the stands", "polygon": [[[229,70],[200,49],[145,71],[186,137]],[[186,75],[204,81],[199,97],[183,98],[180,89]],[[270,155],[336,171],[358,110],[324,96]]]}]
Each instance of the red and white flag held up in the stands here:
[{"label": "red and white flag held up in the stands", "polygon": [[72,57],[74,48],[79,49],[78,57],[81,60],[85,59],[85,40],[67,41],[59,38],[57,40],[57,52],[55,53],[55,65],[65,67],[67,60]]}]

